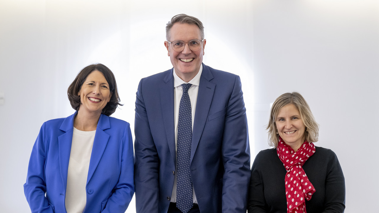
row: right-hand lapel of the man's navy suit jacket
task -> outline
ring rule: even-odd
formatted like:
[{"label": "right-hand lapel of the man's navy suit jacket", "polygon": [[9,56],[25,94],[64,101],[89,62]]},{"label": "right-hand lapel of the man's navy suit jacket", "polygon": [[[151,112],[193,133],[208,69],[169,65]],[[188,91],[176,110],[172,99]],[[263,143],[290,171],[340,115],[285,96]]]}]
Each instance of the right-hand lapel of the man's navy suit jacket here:
[{"label": "right-hand lapel of the man's navy suit jacket", "polygon": [[213,93],[215,92],[216,85],[210,82],[212,79],[212,73],[209,68],[203,64],[192,130],[191,162],[193,156],[195,155],[197,144],[199,144],[200,136],[203,133],[205,121],[207,121],[208,111],[212,102]]}]

